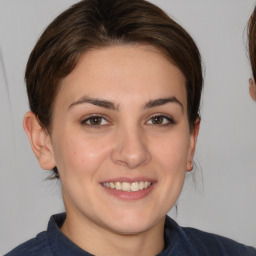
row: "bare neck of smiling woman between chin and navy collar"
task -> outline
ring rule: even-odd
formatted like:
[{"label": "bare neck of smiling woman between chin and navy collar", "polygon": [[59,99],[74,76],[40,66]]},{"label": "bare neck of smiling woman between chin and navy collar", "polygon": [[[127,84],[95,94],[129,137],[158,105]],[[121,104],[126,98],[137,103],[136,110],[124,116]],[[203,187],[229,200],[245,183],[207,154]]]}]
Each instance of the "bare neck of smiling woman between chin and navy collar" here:
[{"label": "bare neck of smiling woman between chin and navy collar", "polygon": [[[67,214],[61,231],[81,249],[94,255],[149,256],[164,248],[163,218],[154,226],[136,234],[119,234],[90,221],[78,221]],[[74,221],[75,220],[75,221]]]}]

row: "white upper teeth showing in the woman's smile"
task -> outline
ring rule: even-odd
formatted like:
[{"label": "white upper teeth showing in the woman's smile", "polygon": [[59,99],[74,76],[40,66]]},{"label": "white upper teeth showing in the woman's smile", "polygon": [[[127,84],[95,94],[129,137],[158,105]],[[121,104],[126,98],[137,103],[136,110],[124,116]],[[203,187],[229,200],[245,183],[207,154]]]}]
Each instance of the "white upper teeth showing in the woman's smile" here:
[{"label": "white upper teeth showing in the woman's smile", "polygon": [[139,190],[143,190],[151,186],[151,182],[149,181],[140,181],[140,182],[104,182],[103,186],[107,188],[112,188],[116,190],[121,190],[125,192],[136,192]]}]

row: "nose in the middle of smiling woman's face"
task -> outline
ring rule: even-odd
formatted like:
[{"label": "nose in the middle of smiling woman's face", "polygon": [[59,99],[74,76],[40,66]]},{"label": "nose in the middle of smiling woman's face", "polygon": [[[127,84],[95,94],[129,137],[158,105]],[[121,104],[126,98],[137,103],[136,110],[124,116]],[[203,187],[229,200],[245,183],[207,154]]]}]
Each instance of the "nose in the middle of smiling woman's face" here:
[{"label": "nose in the middle of smiling woman's face", "polygon": [[145,165],[151,159],[146,136],[139,127],[123,129],[116,136],[114,145],[112,160],[129,169]]}]

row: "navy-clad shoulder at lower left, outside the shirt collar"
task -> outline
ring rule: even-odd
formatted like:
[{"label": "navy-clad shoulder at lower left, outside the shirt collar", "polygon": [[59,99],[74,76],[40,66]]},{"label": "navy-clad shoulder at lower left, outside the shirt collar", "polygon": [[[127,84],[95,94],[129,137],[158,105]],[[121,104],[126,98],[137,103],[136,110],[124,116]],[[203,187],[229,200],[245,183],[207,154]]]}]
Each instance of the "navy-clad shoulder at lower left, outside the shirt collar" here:
[{"label": "navy-clad shoulder at lower left, outside the shirt collar", "polygon": [[51,256],[46,232],[39,233],[35,238],[14,248],[5,256]]}]

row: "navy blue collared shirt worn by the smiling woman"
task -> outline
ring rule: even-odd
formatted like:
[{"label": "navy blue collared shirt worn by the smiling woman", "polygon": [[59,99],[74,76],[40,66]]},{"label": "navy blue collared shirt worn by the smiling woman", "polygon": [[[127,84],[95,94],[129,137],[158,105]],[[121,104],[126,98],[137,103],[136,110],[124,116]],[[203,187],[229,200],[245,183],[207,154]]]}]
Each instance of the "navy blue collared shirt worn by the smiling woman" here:
[{"label": "navy blue collared shirt worn by the smiling woman", "polygon": [[[61,231],[65,214],[51,217],[48,229],[5,256],[91,256]],[[165,249],[158,256],[256,256],[256,249],[228,238],[193,228],[182,228],[170,217],[165,221]]]}]

